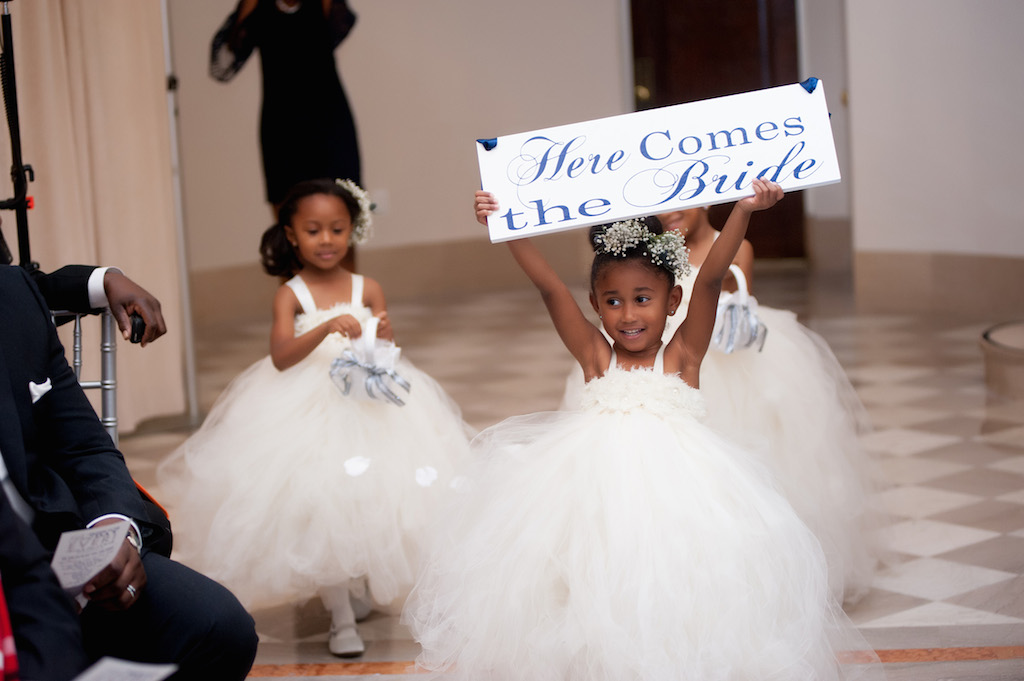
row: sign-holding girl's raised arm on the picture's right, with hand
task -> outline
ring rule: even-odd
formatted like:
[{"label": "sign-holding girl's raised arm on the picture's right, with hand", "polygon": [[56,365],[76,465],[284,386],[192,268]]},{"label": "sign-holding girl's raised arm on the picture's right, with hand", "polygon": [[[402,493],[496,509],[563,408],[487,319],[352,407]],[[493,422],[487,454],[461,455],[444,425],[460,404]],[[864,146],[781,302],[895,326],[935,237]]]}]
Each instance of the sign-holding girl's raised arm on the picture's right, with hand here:
[{"label": "sign-holding girl's raised arm on the picture's right, with hand", "polygon": [[[718,311],[718,296],[722,292],[722,280],[729,271],[729,265],[743,243],[751,214],[771,208],[782,198],[782,187],[775,182],[754,180],[754,196],[736,203],[729,214],[722,233],[712,245],[700,271],[693,282],[686,320],[676,331],[676,337],[689,363],[699,366],[708,351],[711,336],[715,330],[715,314]],[[675,339],[674,339],[675,340]]]}]

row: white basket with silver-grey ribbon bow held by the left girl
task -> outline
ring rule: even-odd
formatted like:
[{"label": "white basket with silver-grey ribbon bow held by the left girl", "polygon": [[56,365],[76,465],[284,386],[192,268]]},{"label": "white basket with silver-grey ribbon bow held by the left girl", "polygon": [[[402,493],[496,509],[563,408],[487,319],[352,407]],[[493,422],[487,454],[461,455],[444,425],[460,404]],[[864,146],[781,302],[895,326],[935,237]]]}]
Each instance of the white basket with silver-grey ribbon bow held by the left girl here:
[{"label": "white basket with silver-grey ribbon bow held by the left girl", "polygon": [[[377,338],[377,317],[362,325],[362,335],[331,363],[331,380],[341,394],[355,399],[381,399],[402,407],[393,386],[410,391],[409,381],[395,371],[401,348]],[[393,385],[392,385],[393,384]]]}]

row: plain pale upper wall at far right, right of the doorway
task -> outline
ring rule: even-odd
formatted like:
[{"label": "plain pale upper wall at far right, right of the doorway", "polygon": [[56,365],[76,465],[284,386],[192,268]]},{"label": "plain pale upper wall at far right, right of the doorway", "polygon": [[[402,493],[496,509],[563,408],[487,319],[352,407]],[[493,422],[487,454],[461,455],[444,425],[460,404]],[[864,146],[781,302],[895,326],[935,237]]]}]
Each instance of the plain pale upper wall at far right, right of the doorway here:
[{"label": "plain pale upper wall at far right, right of the doorway", "polygon": [[1024,2],[846,18],[855,250],[1024,257]]}]

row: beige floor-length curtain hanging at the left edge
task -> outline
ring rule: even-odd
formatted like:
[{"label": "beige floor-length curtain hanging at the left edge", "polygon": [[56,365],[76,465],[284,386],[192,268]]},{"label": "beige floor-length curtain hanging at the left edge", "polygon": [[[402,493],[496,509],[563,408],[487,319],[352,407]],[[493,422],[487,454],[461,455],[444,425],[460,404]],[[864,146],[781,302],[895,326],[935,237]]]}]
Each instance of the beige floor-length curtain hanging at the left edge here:
[{"label": "beige floor-length curtain hanging at the left edge", "polygon": [[[145,348],[118,343],[121,431],[181,414],[181,255],[160,2],[32,0],[9,7],[23,156],[36,173],[29,185],[33,259],[46,271],[116,265],[160,299],[168,334]],[[7,198],[6,126],[0,164],[0,195]],[[3,218],[16,259],[13,213]],[[90,329],[83,378],[98,378],[97,338]]]}]

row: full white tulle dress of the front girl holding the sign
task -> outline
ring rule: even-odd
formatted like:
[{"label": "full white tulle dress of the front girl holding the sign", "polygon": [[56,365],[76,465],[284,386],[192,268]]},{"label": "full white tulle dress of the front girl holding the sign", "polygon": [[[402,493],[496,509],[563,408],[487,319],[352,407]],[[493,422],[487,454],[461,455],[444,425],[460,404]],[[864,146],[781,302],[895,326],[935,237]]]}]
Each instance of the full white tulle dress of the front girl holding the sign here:
[{"label": "full white tulle dress of the front girl holding the sign", "polygon": [[[828,681],[877,665],[818,542],[676,375],[481,432],[402,620],[428,678]],[[849,636],[850,638],[845,638]]]}]

